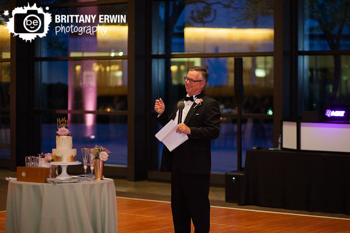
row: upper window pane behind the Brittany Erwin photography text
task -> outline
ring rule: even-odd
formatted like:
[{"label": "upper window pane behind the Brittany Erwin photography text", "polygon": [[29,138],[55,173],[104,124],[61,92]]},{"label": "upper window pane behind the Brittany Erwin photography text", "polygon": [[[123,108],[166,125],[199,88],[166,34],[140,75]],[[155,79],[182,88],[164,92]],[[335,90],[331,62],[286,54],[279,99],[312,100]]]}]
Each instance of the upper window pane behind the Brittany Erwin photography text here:
[{"label": "upper window pane behind the Brittany Erwin photography text", "polygon": [[[36,57],[86,57],[86,56],[111,56],[127,55],[128,24],[122,19],[116,22],[99,23],[99,15],[127,15],[127,4],[50,8],[52,15],[96,15],[94,22],[90,23],[66,23],[55,20],[50,24],[48,34],[40,40],[36,40]],[[103,26],[105,32],[87,33],[86,27]],[[85,30],[71,32],[71,28]],[[68,28],[70,28],[69,32]],[[51,30],[52,29],[52,30]]]}]

